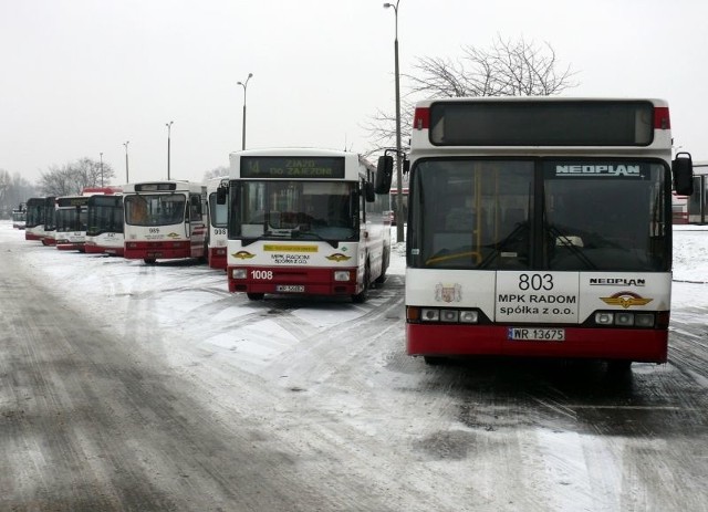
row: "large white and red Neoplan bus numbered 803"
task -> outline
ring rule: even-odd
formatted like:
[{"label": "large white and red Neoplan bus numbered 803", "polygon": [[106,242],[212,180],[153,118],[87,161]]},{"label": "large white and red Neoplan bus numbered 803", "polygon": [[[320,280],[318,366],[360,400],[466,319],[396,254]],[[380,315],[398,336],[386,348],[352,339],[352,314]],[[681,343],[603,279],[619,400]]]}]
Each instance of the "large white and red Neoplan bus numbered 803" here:
[{"label": "large white and red Neoplan bus numbered 803", "polygon": [[693,171],[664,101],[425,101],[409,158],[408,354],[667,361]]}]

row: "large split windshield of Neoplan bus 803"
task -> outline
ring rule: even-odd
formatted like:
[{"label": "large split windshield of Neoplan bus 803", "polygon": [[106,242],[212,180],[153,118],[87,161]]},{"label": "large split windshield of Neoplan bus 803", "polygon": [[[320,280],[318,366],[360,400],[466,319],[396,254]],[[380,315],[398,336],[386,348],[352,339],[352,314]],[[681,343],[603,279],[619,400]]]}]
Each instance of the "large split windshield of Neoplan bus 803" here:
[{"label": "large split windshield of Neoplan bus 803", "polygon": [[658,161],[425,159],[413,173],[413,268],[670,269]]}]

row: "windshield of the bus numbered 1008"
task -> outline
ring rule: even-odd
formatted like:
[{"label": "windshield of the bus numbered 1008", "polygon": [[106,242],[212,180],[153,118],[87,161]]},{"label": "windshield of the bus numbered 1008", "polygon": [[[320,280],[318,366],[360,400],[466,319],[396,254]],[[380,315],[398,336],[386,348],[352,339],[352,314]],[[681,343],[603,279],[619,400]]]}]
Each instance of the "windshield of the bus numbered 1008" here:
[{"label": "windshield of the bus numbered 1008", "polygon": [[232,227],[238,238],[358,237],[356,182],[239,181],[236,190]]}]

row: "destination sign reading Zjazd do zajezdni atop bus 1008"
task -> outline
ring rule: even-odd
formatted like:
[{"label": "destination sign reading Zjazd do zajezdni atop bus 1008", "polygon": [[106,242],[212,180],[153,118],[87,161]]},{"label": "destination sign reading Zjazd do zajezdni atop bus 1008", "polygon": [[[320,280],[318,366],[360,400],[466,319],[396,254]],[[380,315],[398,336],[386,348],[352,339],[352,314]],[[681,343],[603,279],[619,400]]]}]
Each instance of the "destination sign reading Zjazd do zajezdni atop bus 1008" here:
[{"label": "destination sign reading Zjazd do zajezdni atop bus 1008", "polygon": [[342,157],[241,157],[241,178],[344,178]]}]

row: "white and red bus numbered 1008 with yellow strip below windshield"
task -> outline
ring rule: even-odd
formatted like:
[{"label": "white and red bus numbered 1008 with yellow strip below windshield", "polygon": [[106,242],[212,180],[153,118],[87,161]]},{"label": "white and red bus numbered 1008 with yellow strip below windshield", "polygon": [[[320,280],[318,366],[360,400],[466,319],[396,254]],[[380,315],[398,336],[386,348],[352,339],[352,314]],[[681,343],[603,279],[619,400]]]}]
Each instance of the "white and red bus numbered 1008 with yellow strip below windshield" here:
[{"label": "white and red bus numbered 1008 with yellow strip below windshield", "polygon": [[366,300],[391,254],[388,198],[358,155],[325,149],[231,154],[229,291]]}]

